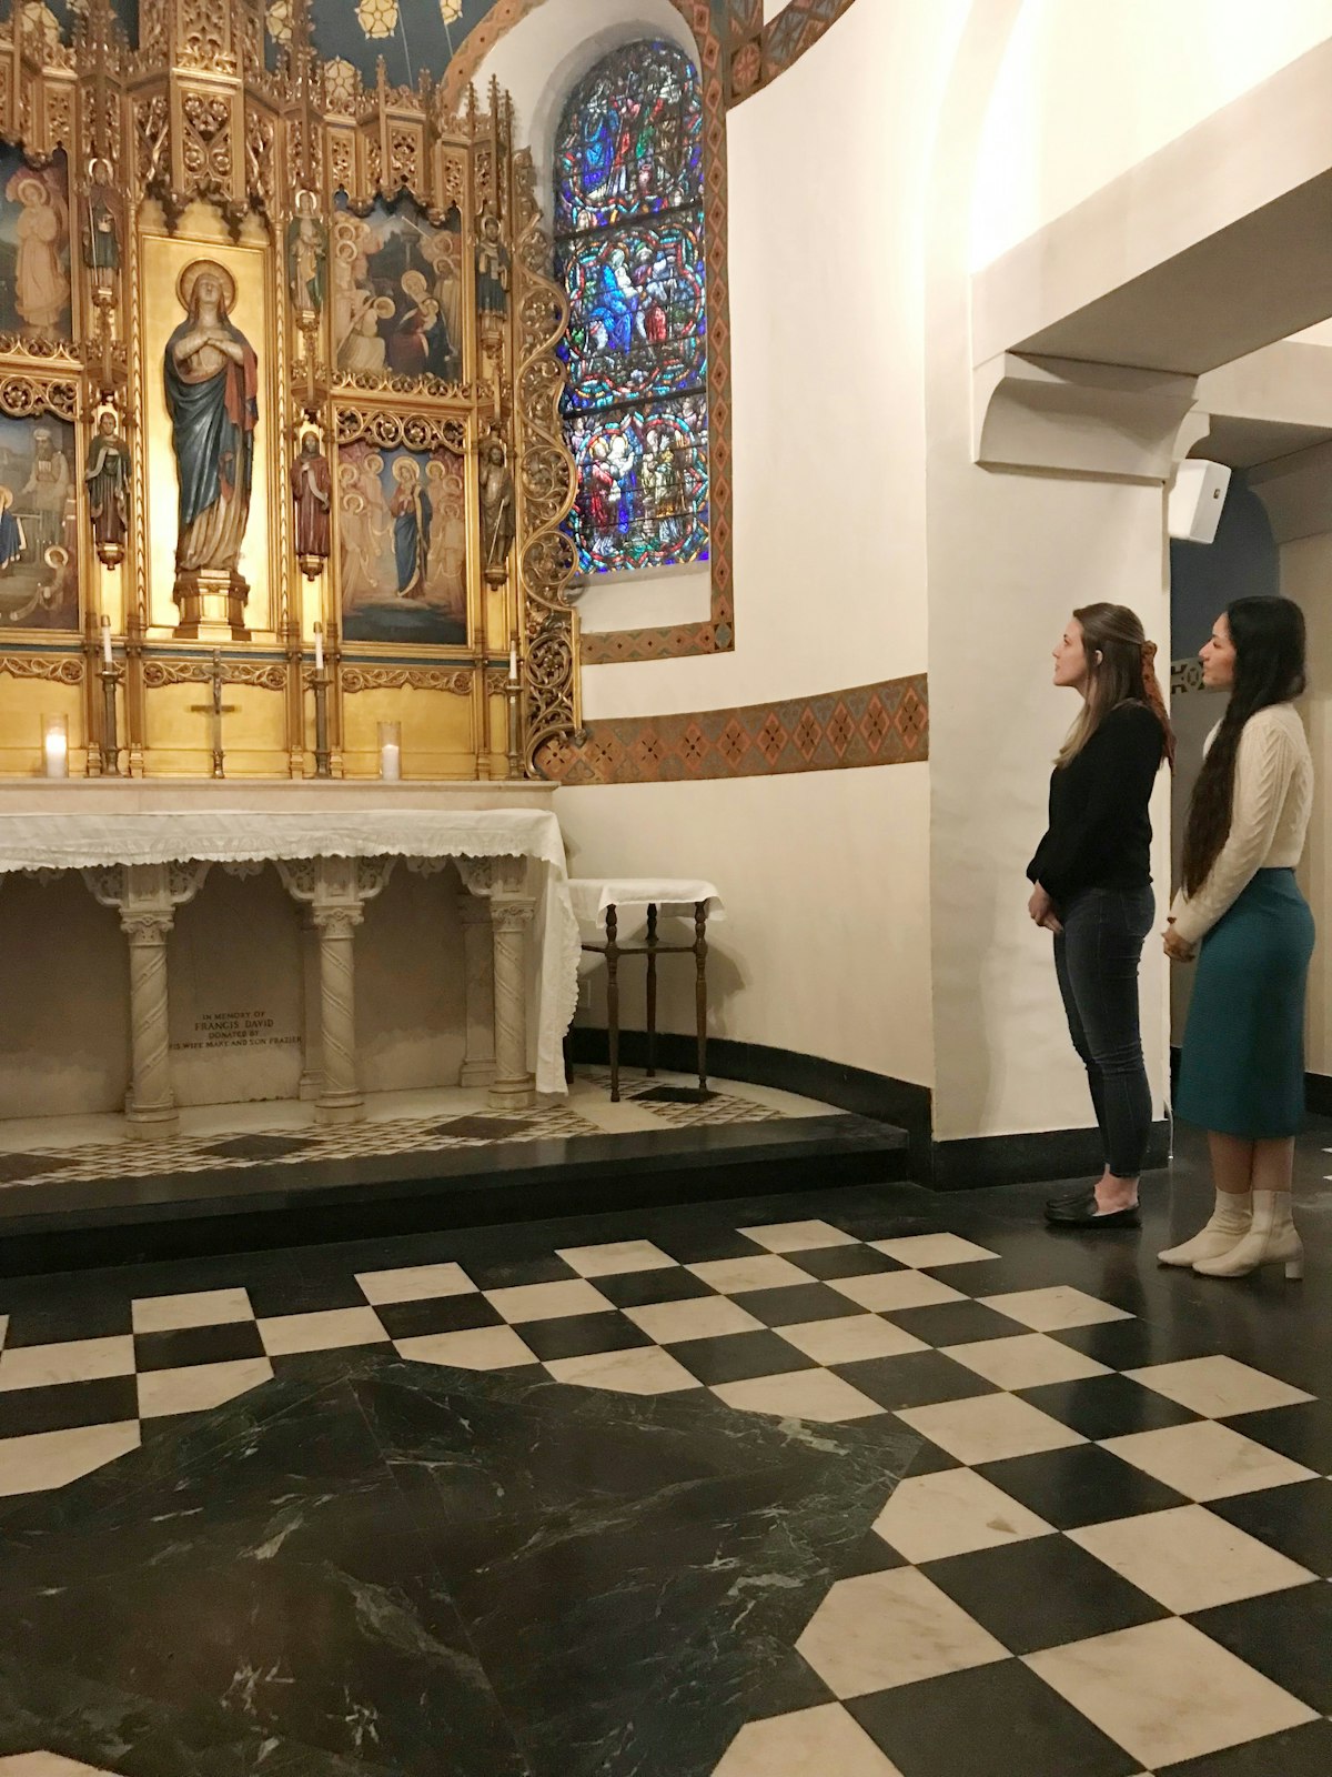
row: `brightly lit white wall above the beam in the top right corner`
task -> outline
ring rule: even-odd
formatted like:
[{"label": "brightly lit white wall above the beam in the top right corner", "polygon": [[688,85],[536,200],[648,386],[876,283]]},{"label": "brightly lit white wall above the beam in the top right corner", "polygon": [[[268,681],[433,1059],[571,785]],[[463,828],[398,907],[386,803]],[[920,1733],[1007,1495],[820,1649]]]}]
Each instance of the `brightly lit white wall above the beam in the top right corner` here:
[{"label": "brightly lit white wall above the beam in the top right corner", "polygon": [[970,263],[996,259],[1328,36],[1332,0],[1023,0],[986,108]]}]

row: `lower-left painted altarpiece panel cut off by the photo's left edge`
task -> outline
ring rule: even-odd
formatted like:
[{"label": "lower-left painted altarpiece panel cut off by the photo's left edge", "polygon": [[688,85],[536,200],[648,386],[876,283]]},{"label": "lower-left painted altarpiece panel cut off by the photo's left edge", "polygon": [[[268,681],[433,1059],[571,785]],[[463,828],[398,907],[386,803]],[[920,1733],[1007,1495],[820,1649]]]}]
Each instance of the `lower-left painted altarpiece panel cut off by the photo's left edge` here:
[{"label": "lower-left painted altarpiece panel cut off by the photo's left edge", "polygon": [[75,428],[0,419],[0,626],[78,629]]}]

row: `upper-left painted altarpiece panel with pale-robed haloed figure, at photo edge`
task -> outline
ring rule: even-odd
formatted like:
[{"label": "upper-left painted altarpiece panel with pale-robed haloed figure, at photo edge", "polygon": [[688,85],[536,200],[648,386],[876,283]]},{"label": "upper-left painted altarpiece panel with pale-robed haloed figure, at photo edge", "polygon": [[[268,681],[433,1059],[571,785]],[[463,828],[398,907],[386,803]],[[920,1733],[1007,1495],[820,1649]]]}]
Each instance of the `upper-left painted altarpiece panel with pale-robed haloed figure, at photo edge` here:
[{"label": "upper-left painted altarpiece panel with pale-robed haloed figure, at photo edge", "polygon": [[0,332],[69,338],[69,179],[64,155],[30,167],[0,147]]}]

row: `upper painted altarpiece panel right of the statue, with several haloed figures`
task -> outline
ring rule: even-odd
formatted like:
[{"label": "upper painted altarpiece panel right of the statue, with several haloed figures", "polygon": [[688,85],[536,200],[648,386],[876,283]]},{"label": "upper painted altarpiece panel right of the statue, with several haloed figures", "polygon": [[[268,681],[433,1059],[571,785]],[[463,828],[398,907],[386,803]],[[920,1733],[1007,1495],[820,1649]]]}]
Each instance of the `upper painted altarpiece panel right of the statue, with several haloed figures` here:
[{"label": "upper painted altarpiece panel right of the statue, with several haloed figures", "polygon": [[364,217],[339,195],[332,226],[332,323],[339,370],[462,379],[462,217],[442,226],[410,201]]}]

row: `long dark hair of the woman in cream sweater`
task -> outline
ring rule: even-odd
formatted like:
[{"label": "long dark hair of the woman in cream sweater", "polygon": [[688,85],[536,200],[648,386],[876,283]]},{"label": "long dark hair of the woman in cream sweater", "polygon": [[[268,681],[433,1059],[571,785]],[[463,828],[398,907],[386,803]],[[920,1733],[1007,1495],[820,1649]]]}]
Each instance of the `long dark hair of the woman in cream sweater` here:
[{"label": "long dark hair of the woman in cream sweater", "polygon": [[1185,828],[1185,892],[1197,894],[1231,835],[1234,761],[1250,716],[1304,691],[1304,611],[1289,599],[1236,599],[1225,606],[1234,643],[1234,688],[1202,761]]}]

